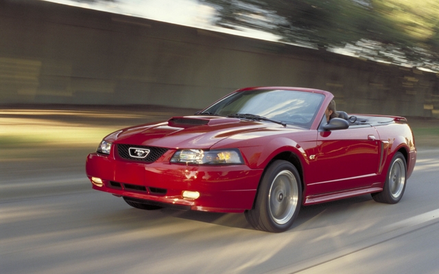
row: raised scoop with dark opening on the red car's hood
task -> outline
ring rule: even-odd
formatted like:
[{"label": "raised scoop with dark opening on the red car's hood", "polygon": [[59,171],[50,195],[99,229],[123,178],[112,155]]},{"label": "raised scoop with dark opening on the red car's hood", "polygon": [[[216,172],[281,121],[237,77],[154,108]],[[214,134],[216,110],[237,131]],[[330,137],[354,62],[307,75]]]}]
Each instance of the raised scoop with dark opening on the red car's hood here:
[{"label": "raised scoop with dark opening on the red car's hood", "polygon": [[196,127],[200,125],[224,125],[230,123],[239,123],[237,118],[212,117],[212,116],[182,116],[172,117],[167,121],[171,127]]}]

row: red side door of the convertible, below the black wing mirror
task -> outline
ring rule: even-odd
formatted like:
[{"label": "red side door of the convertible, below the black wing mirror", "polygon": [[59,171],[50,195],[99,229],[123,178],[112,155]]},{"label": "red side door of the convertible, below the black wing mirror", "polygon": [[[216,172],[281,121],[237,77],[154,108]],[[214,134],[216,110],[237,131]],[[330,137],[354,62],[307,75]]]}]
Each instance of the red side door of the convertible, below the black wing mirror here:
[{"label": "red side door of the convertible, below the black wing mirror", "polygon": [[309,190],[319,194],[371,186],[379,169],[379,144],[375,127],[319,132]]}]

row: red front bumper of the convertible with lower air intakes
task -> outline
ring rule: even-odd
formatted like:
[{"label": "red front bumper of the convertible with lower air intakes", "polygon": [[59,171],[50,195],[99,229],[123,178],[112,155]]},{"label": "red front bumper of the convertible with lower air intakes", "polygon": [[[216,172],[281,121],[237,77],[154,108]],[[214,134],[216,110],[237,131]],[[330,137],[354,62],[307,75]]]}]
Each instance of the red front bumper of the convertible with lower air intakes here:
[{"label": "red front bumper of the convertible with lower air intakes", "polygon": [[[91,153],[86,159],[86,175],[102,180],[102,186],[92,183],[95,190],[169,207],[210,212],[244,212],[252,208],[263,170],[246,165],[171,164],[167,160],[171,153],[153,163]],[[185,198],[185,190],[199,192],[200,197]]]}]

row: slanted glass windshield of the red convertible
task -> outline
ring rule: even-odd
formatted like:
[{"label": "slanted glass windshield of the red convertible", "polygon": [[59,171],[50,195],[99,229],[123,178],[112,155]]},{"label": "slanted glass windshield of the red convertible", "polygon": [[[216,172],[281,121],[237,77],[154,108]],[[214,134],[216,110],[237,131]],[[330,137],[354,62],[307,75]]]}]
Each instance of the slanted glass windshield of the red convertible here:
[{"label": "slanted glass windshield of the red convertible", "polygon": [[324,95],[295,90],[246,90],[235,92],[203,113],[219,116],[254,114],[294,125],[311,126]]}]

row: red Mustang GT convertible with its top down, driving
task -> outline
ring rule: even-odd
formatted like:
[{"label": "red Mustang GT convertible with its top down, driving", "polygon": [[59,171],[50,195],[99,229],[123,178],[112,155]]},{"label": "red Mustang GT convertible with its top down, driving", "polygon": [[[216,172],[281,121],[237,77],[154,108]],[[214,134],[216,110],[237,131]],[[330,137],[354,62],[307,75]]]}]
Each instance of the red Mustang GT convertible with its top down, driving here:
[{"label": "red Mustang GT convertible with its top down, driving", "polygon": [[327,121],[332,99],[243,88],[193,116],[109,134],[86,175],[134,208],[244,212],[268,232],[289,229],[302,205],[368,193],[397,203],[416,162],[406,119],[337,112]]}]

